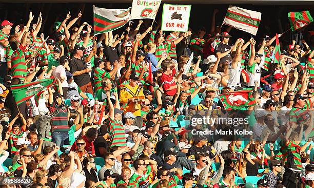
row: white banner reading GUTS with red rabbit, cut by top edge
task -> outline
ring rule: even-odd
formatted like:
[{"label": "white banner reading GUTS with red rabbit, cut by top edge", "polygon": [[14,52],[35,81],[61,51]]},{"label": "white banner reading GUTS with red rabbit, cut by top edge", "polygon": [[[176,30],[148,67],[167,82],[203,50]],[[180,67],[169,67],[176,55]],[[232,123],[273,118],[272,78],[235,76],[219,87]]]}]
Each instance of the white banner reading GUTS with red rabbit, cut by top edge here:
[{"label": "white banner reading GUTS with red rabbit, cut by top edge", "polygon": [[152,19],[155,20],[161,0],[133,0],[131,19]]}]

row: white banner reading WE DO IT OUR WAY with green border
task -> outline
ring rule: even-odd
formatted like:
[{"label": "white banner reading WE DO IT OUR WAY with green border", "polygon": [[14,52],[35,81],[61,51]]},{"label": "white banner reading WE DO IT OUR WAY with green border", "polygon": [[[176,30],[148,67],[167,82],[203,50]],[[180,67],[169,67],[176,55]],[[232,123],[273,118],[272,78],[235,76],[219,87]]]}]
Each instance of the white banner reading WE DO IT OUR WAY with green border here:
[{"label": "white banner reading WE DO IT OUR WAY with green border", "polygon": [[164,4],[162,30],[187,32],[191,5]]}]

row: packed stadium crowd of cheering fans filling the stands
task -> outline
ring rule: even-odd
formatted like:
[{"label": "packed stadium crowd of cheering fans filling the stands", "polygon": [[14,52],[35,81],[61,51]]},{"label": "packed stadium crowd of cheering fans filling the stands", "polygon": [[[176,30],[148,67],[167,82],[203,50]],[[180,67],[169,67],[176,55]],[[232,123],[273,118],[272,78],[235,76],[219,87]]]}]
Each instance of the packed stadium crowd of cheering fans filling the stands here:
[{"label": "packed stadium crowd of cheering fans filling the stands", "polygon": [[[42,14],[1,22],[0,187],[314,187],[306,27],[301,38],[277,35],[274,63],[276,35],[234,39],[215,19],[141,33],[151,21],[140,20],[95,36],[81,17],[67,14],[48,40]],[[56,85],[16,105],[11,85],[43,79]],[[227,95],[240,90],[251,92]],[[251,103],[235,108],[241,101]],[[246,121],[214,121],[228,118]],[[236,129],[251,134],[201,134]]]}]

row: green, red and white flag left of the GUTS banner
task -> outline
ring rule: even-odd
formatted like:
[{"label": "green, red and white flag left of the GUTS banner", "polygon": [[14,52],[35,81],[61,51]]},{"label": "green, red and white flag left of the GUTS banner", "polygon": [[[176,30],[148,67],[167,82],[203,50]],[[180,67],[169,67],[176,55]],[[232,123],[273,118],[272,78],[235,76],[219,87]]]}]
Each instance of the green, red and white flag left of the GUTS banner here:
[{"label": "green, red and white flag left of the GUTS banner", "polygon": [[104,9],[94,6],[95,35],[119,29],[128,23],[130,18],[130,8]]}]

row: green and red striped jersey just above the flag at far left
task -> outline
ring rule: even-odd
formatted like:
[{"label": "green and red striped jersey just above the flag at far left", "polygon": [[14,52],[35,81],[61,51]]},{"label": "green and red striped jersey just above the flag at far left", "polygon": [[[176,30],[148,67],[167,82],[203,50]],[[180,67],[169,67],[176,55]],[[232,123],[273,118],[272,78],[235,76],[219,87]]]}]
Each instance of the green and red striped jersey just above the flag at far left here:
[{"label": "green and red striped jersey just above the flag at far left", "polygon": [[19,78],[21,81],[24,81],[27,76],[27,66],[23,50],[25,50],[25,47],[19,45],[11,56],[12,77]]}]

